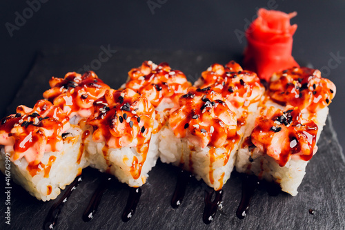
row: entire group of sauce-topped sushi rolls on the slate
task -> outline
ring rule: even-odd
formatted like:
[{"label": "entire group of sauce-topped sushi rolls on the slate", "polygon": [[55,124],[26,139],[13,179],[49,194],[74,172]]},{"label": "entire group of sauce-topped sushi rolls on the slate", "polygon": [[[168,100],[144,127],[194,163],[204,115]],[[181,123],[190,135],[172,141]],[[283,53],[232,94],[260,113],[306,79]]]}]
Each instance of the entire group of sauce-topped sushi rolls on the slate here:
[{"label": "entire group of sauce-topped sushi rolls on the slate", "polygon": [[319,70],[290,68],[268,86],[235,61],[194,86],[166,63],[144,61],[119,90],[92,71],[52,77],[34,108],[1,119],[0,169],[39,200],[57,198],[91,166],[132,187],[161,162],[220,190],[237,171],[297,194],[317,151],[335,86]]}]

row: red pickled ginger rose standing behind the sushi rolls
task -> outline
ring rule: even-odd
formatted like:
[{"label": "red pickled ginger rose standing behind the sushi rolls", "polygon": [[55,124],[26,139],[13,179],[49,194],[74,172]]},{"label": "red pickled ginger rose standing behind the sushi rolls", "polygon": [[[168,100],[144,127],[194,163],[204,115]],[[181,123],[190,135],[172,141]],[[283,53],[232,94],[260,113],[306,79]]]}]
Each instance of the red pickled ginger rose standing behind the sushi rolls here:
[{"label": "red pickled ginger rose standing behind the sushi rolls", "polygon": [[291,55],[297,25],[291,26],[290,19],[297,12],[286,14],[261,8],[257,15],[246,30],[248,46],[244,50],[244,66],[268,81],[277,71],[299,66]]}]

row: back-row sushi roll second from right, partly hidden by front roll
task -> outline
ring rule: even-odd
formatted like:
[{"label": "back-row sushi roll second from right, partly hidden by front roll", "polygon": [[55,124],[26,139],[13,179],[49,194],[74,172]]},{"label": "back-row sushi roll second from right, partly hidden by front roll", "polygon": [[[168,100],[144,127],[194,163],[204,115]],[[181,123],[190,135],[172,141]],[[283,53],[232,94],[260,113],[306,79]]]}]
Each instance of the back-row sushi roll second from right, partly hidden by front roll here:
[{"label": "back-row sushi roll second from right, partly hidden by front roll", "polygon": [[257,106],[265,92],[256,73],[244,70],[235,61],[225,66],[213,64],[201,74],[195,86],[210,86],[233,105],[242,142],[242,137],[253,129]]}]

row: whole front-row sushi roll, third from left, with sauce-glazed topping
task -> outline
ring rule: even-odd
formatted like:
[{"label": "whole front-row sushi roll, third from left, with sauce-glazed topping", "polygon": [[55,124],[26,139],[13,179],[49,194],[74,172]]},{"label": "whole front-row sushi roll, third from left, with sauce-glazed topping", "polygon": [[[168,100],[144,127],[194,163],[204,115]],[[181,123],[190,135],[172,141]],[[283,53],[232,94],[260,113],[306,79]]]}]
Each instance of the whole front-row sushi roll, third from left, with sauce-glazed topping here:
[{"label": "whole front-row sushi roll, third from left, with sauce-glazed topping", "polygon": [[161,162],[179,166],[216,191],[230,178],[239,144],[233,106],[213,88],[191,87],[161,131]]}]

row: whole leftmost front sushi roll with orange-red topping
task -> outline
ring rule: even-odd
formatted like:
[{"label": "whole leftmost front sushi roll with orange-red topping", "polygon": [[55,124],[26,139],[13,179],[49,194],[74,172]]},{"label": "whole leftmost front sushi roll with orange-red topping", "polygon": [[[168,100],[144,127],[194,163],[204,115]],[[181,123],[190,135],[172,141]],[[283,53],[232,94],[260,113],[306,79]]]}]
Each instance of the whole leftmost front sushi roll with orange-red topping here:
[{"label": "whole leftmost front sushi roll with orange-red topping", "polygon": [[81,129],[58,106],[39,100],[18,106],[0,125],[0,169],[10,159],[11,177],[39,200],[57,198],[88,162],[80,152]]}]

